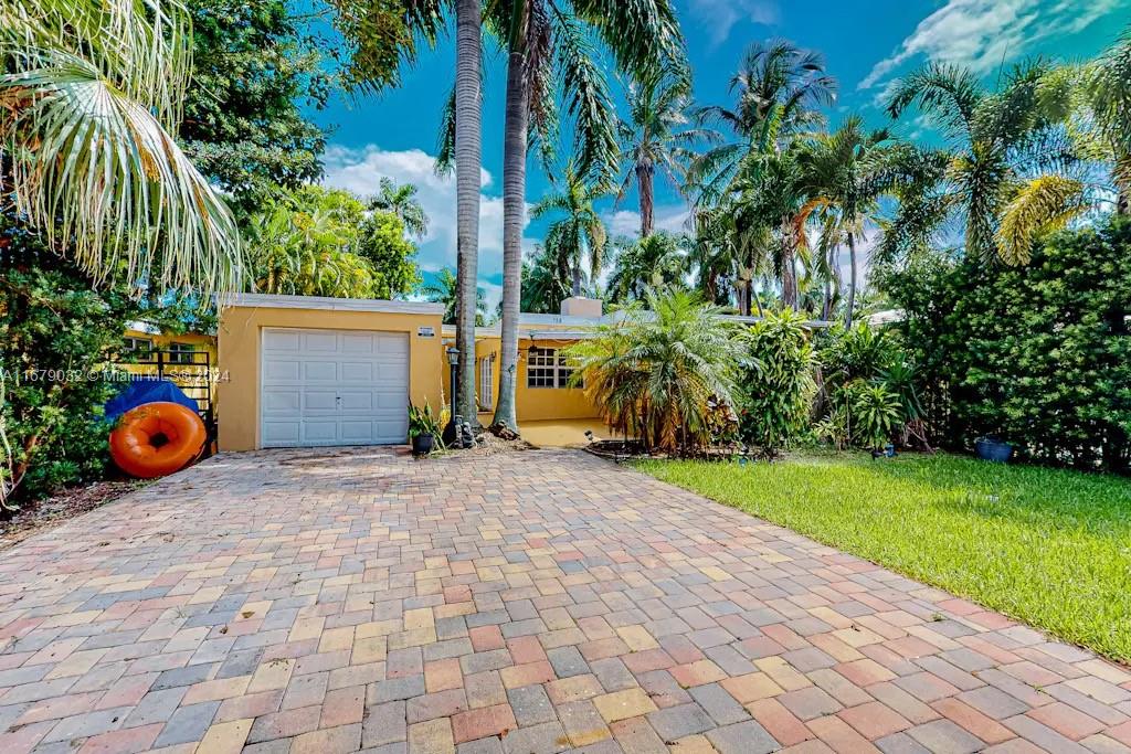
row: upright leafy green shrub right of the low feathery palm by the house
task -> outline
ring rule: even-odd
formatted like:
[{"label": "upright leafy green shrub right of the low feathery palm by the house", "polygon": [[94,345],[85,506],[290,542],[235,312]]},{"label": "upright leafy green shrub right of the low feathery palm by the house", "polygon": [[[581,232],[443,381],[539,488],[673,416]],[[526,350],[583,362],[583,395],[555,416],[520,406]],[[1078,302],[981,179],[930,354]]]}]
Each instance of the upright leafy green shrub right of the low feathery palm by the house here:
[{"label": "upright leafy green shrub right of the low feathery palm by the house", "polygon": [[767,313],[742,344],[741,436],[774,454],[809,427],[815,359],[805,319],[792,309]]}]

